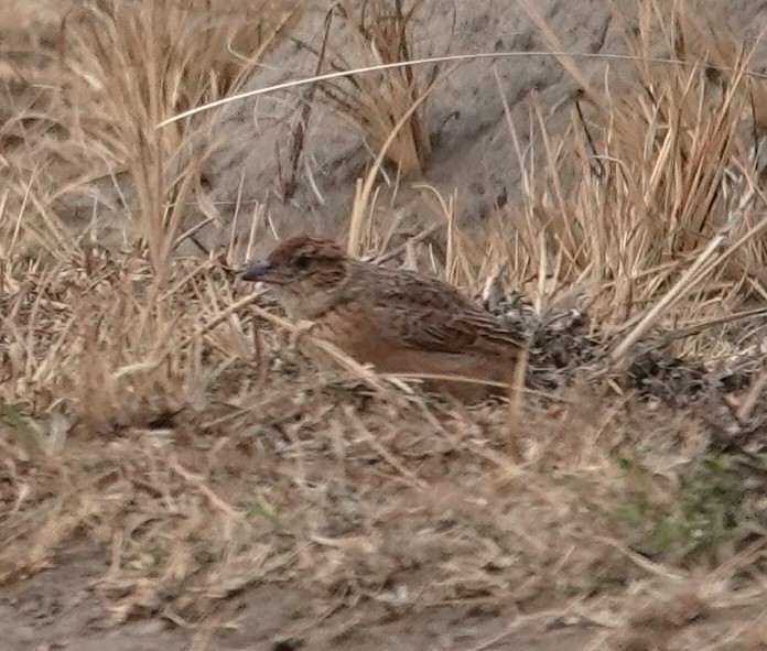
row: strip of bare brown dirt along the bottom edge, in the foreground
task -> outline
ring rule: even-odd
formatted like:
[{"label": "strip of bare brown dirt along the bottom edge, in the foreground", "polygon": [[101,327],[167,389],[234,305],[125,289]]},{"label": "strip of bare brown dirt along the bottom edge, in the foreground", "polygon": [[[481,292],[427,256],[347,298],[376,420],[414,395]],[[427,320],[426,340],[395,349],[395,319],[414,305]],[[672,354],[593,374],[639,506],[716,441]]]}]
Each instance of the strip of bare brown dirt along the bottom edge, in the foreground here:
[{"label": "strip of bare brown dirt along the bottom edge, in the foreground", "polygon": [[[617,626],[618,614],[587,616],[572,604],[569,612],[520,612],[482,600],[432,607],[398,608],[360,603],[350,610],[310,615],[313,604],[301,588],[263,585],[233,597],[223,612],[185,630],[171,618],[139,619],[115,627],[94,594],[108,573],[104,552],[73,543],[55,563],[34,577],[3,590],[0,637],[6,651],[72,649],[78,651],[587,651],[599,649],[764,649],[767,610],[730,606],[679,610],[673,623],[661,618]],[[759,628],[758,622],[761,621]],[[755,622],[757,626],[755,626]],[[753,628],[753,645],[743,633]],[[727,645],[726,640],[738,640]]]}]

